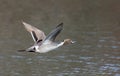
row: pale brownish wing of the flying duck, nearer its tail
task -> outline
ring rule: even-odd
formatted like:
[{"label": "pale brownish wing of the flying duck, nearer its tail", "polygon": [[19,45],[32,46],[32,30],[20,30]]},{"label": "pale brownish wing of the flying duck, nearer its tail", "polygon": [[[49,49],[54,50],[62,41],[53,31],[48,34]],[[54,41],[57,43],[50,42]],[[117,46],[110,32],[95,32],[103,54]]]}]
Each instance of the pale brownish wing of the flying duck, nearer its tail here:
[{"label": "pale brownish wing of the flying duck, nearer its tail", "polygon": [[22,22],[28,32],[30,32],[34,42],[37,42],[39,40],[44,40],[46,38],[45,34],[43,31],[37,29],[36,27],[26,23]]}]

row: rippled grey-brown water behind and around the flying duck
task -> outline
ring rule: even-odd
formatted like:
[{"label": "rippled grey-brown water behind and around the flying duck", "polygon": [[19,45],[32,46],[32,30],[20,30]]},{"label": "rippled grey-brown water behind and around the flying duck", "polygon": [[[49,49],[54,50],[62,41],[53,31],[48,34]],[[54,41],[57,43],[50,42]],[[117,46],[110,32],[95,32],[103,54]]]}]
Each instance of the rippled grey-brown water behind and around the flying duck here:
[{"label": "rippled grey-brown water behind and around the flying duck", "polygon": [[[0,0],[0,76],[120,76],[119,0]],[[45,54],[20,53],[33,44],[25,21],[57,40],[77,43]]]}]

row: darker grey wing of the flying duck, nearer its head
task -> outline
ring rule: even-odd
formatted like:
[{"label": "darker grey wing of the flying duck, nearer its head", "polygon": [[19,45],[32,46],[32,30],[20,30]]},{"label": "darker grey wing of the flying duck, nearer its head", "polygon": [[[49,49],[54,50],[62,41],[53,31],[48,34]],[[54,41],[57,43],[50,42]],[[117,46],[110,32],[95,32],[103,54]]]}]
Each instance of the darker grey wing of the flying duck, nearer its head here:
[{"label": "darker grey wing of the flying duck, nearer its head", "polygon": [[63,29],[63,23],[60,23],[52,32],[48,34],[48,36],[45,38],[45,41],[48,41],[48,40],[54,41],[62,29]]}]

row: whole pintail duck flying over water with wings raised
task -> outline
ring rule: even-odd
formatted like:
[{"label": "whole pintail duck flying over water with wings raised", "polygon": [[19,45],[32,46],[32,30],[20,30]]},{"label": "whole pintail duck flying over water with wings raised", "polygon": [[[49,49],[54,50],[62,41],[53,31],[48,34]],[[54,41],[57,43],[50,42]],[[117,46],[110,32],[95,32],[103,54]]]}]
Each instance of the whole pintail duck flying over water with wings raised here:
[{"label": "whole pintail duck flying over water with wings raised", "polygon": [[75,41],[72,41],[71,39],[65,39],[63,42],[55,42],[55,38],[63,29],[63,23],[57,25],[57,27],[47,36],[43,31],[37,29],[36,27],[31,26],[26,22],[22,23],[25,26],[26,30],[31,34],[34,40],[34,45],[26,50],[19,51],[46,53],[60,46],[75,43]]}]

